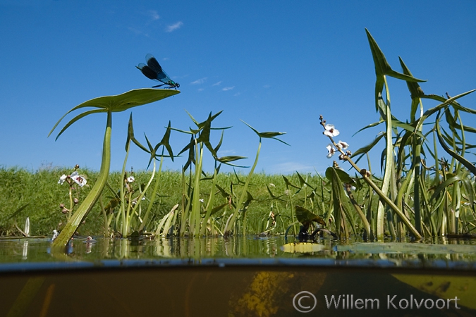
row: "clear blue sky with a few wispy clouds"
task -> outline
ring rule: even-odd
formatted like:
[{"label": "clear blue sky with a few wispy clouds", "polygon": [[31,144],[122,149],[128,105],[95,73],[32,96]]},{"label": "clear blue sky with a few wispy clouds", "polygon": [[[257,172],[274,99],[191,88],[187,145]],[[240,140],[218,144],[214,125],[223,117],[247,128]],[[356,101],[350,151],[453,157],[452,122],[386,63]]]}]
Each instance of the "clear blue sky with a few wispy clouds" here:
[{"label": "clear blue sky with a few wispy clouds", "polygon": [[[264,139],[258,171],[323,172],[332,160],[319,115],[336,125],[336,141],[353,151],[379,132],[353,136],[379,120],[365,27],[395,70],[401,56],[415,77],[428,80],[421,85],[426,93],[456,95],[476,88],[475,13],[472,0],[0,0],[0,166],[78,163],[99,170],[104,113],[75,123],[56,142],[56,135],[47,135],[83,101],[157,85],[135,68],[151,53],[181,84],[181,94],[133,108],[141,142],[144,132],[152,144],[159,142],[169,120],[173,128],[193,126],[185,110],[199,121],[223,110],[216,126],[233,128],[225,132],[220,156],[248,156],[243,164],[252,165],[258,139],[241,119],[260,131],[286,132],[281,139],[291,144]],[[405,83],[390,79],[389,87],[393,113],[407,120]],[[476,94],[460,103],[476,108]],[[113,116],[112,170],[123,164],[129,115]],[[476,119],[464,123],[474,126]],[[186,135],[172,134],[176,153],[187,142]],[[372,154],[376,172],[379,151]],[[133,148],[127,166],[145,169],[148,157]],[[166,161],[166,168],[185,161]]]}]

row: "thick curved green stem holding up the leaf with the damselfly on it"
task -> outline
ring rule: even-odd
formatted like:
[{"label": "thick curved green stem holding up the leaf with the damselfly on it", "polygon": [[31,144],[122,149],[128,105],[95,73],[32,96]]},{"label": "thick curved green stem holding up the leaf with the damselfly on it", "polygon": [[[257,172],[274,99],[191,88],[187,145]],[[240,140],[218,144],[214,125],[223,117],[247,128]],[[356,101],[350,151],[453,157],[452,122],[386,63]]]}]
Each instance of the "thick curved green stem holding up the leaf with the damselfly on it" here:
[{"label": "thick curved green stem holding up the leaf with the damselfly on it", "polygon": [[65,251],[66,244],[68,244],[74,232],[78,230],[83,220],[86,218],[87,213],[92,209],[92,206],[96,203],[97,199],[101,196],[102,189],[106,186],[107,178],[109,176],[109,167],[111,166],[111,132],[112,132],[112,113],[107,112],[106,132],[104,132],[104,142],[102,146],[102,162],[99,170],[99,175],[96,183],[91,189],[91,192],[87,194],[87,197],[82,204],[78,207],[78,210],[68,220],[68,223],[61,230],[59,236],[51,244],[51,252],[63,253]]}]

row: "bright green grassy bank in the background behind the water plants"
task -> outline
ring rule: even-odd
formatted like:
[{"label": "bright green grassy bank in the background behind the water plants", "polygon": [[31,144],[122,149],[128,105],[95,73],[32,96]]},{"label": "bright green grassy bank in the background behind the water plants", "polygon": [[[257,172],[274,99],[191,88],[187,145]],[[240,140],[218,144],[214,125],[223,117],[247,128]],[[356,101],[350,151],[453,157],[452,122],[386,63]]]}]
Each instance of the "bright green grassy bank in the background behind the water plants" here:
[{"label": "bright green grassy bank in the background behind the water plants", "polygon": [[[87,178],[87,185],[81,188],[80,199],[84,199],[90,192],[92,185],[97,180],[98,172],[92,170],[80,170],[82,175]],[[50,235],[54,229],[63,228],[66,223],[66,217],[61,213],[59,204],[68,201],[68,188],[66,184],[59,185],[59,177],[63,174],[71,173],[71,168],[49,168],[37,171],[28,171],[22,168],[1,168],[0,167],[0,230],[1,235],[18,235],[15,223],[23,228],[25,218],[30,217],[31,230],[30,235]],[[133,173],[135,189],[140,185],[147,184],[152,177],[152,171],[138,170]],[[234,211],[233,204],[237,200],[237,195],[243,189],[243,184],[238,184],[238,180],[245,178],[242,173],[218,173],[216,179],[202,180],[200,183],[200,199],[209,201],[209,193],[214,195],[214,204],[211,205],[210,218],[214,221],[217,228],[224,228],[228,215]],[[203,177],[205,179],[205,176]],[[329,201],[329,190],[322,184],[322,178],[319,175],[287,175],[289,182],[294,184],[300,183],[300,178],[305,178],[308,185],[299,187],[294,191],[288,191],[286,183],[282,175],[267,175],[264,173],[253,173],[250,178],[248,192],[252,195],[253,200],[250,202],[247,211],[247,233],[259,234],[266,232],[267,234],[282,234],[291,224],[291,209],[293,205],[288,203],[287,199],[283,199],[291,195],[293,202],[303,206],[307,206],[314,213],[324,215],[322,210],[321,189],[324,193],[324,201]],[[123,184],[122,173],[112,172],[109,175],[108,183],[114,191],[109,189],[102,192],[102,201],[104,207],[114,199],[116,192]],[[146,194],[146,199],[141,202],[142,210],[138,211],[140,218],[145,219],[145,211],[150,207],[149,220],[145,222],[142,232],[145,234],[155,234],[159,228],[161,220],[167,216],[176,204],[181,206],[183,199],[182,192],[182,173],[181,171],[163,170],[160,177],[158,172],[154,180],[160,179],[155,194],[155,199]],[[213,184],[215,183],[215,187]],[[153,184],[152,186],[154,186]],[[231,194],[229,188],[233,185],[233,199],[228,200],[220,192],[219,187],[225,192]],[[310,189],[310,186],[314,189]],[[225,190],[227,189],[227,190]],[[271,191],[271,192],[270,192]],[[272,195],[272,196],[271,196]],[[274,196],[274,197],[273,197]],[[246,200],[245,200],[246,201]],[[8,218],[20,206],[28,204],[28,206],[20,211],[12,218]],[[205,204],[200,202],[200,217],[205,217]],[[214,210],[215,209],[215,210]],[[175,214],[182,212],[178,207],[174,210]],[[111,210],[111,214],[118,215],[120,208]],[[225,216],[224,216],[225,215]],[[176,216],[178,221],[179,216]],[[158,235],[166,235],[164,232],[164,220]],[[171,220],[172,221],[172,220]],[[177,223],[178,224],[178,223]],[[172,224],[171,224],[172,225]],[[120,228],[120,227],[119,227]],[[210,227],[207,227],[206,233],[209,234]],[[177,228],[174,228],[177,230]],[[111,232],[114,235],[114,221],[111,222]],[[103,235],[104,234],[104,218],[99,204],[96,204],[87,216],[85,223],[78,228],[80,235]],[[177,233],[177,232],[176,232]],[[240,231],[237,232],[239,234]]]}]

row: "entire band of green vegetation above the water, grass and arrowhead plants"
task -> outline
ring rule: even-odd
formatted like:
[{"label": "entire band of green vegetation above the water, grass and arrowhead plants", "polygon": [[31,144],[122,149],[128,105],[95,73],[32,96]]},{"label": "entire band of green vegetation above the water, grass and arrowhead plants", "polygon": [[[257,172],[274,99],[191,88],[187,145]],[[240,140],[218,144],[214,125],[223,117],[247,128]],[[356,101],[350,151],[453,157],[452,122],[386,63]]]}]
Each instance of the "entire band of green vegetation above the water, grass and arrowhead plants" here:
[{"label": "entire band of green vegetation above the water, grass and arrowhead plants", "polygon": [[[327,168],[325,178],[319,174],[256,174],[263,139],[288,144],[278,138],[283,132],[259,132],[244,121],[257,135],[258,143],[254,163],[248,170],[243,169],[245,167],[236,165],[236,161],[245,159],[244,156],[218,156],[224,133],[231,128],[214,126],[221,111],[209,113],[202,122],[188,113],[194,124],[188,130],[172,128],[169,122],[164,137],[156,145],[152,145],[147,136],[145,145],[136,139],[131,114],[123,169],[121,173],[109,173],[111,113],[178,94],[172,89],[135,89],[86,101],[65,114],[86,107],[96,108],[75,116],[59,135],[85,116],[108,114],[101,170],[99,173],[83,171],[88,182],[80,191],[73,193],[70,186],[68,194],[65,187],[57,184],[61,173],[67,174],[59,169],[28,172],[0,168],[0,234],[16,234],[17,223],[23,223],[27,216],[32,235],[46,235],[56,228],[66,232],[59,237],[57,244],[61,245],[66,244],[76,230],[83,235],[198,237],[283,234],[291,228],[294,235],[298,235],[299,225],[305,230],[314,225],[334,225],[341,239],[347,239],[353,232],[354,235],[362,233],[370,240],[382,240],[384,235],[403,240],[405,235],[420,239],[474,233],[476,167],[467,156],[476,146],[469,144],[465,135],[475,133],[476,128],[464,125],[462,116],[474,115],[476,110],[461,106],[458,99],[475,90],[456,97],[446,94],[446,98],[425,94],[419,85],[424,80],[413,77],[402,58],[399,58],[402,72],[393,70],[370,32],[365,31],[374,61],[378,119],[360,131],[370,128],[381,131],[352,156],[350,151],[344,151],[346,142],[334,142],[333,137],[338,135],[334,125],[327,125],[324,118],[320,118],[324,135],[331,140],[329,157],[339,152],[339,159],[350,163],[355,175],[343,171],[335,161]],[[403,80],[408,87],[408,119],[400,120],[392,113],[388,77]],[[424,111],[423,99],[437,104]],[[221,137],[217,144],[212,144],[211,135],[216,131]],[[190,135],[190,141],[177,154],[183,155],[186,161],[181,171],[162,170],[164,159],[177,157],[169,142],[171,133],[176,132]],[[368,169],[359,168],[356,163],[365,156],[368,161],[368,152],[377,149],[382,142],[383,176],[378,178],[372,175],[370,161]],[[150,154],[147,169],[152,165],[152,171],[126,173],[131,144]],[[451,161],[440,157],[439,149],[443,149]],[[207,159],[214,161],[212,173],[203,168]],[[223,173],[222,165],[239,171]],[[73,194],[83,201],[78,208],[73,206]],[[98,200],[99,206],[95,204]],[[66,204],[65,201],[70,202],[66,218],[58,207]],[[90,216],[86,219],[88,213]],[[85,225],[78,229],[83,222]]]}]

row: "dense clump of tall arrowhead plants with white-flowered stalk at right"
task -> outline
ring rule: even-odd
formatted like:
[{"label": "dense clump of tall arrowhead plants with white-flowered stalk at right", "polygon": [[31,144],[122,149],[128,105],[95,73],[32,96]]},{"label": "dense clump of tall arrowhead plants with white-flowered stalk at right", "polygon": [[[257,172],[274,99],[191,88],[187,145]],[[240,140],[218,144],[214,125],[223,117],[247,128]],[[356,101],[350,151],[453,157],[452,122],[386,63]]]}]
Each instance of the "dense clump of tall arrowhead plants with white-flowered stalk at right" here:
[{"label": "dense clump of tall arrowhead plants with white-flowered stalk at right", "polygon": [[[368,185],[366,190],[369,199],[365,207],[367,215],[362,213],[359,204],[356,202],[352,202],[352,204],[364,224],[367,237],[371,236],[370,223],[373,223],[372,235],[379,240],[382,239],[385,232],[385,220],[389,235],[393,238],[402,238],[405,235],[403,226],[416,239],[422,235],[456,234],[460,221],[459,211],[463,209],[461,205],[464,201],[468,201],[470,208],[466,209],[462,226],[469,232],[475,228],[471,222],[475,220],[474,210],[469,213],[468,210],[470,211],[474,206],[472,197],[475,196],[475,188],[472,184],[474,184],[476,168],[464,158],[465,151],[472,148],[472,145],[465,142],[465,132],[476,132],[476,130],[463,125],[460,113],[476,114],[476,111],[461,106],[456,100],[475,90],[458,94],[456,97],[447,95],[446,98],[425,94],[418,84],[424,80],[413,77],[401,58],[403,73],[393,70],[370,32],[368,30],[366,32],[377,77],[374,94],[375,107],[380,118],[377,123],[367,125],[360,131],[382,124],[385,125],[385,129],[370,144],[351,154],[350,151],[344,151],[345,142],[334,141],[333,137],[338,135],[338,130],[334,125],[327,124],[322,116],[320,118],[324,135],[331,140],[331,144],[327,147],[327,156],[330,158],[334,153],[339,152],[339,159],[350,163],[358,172],[358,176],[351,178],[348,173],[338,169],[338,164],[335,161],[334,166],[327,169],[326,176],[332,184],[336,230],[341,237],[348,237],[349,232],[345,219],[350,221],[352,228],[355,228],[353,217],[350,214],[351,208],[348,205],[352,198],[343,192],[342,186],[344,185],[348,189],[350,185],[357,185],[358,190],[362,190],[360,180],[364,180]],[[410,120],[407,122],[398,120],[391,113],[388,76],[403,80],[408,86],[411,103]],[[441,104],[424,112],[422,99],[433,99]],[[417,118],[418,106],[420,106],[420,118]],[[453,114],[450,112],[451,108],[453,108]],[[423,125],[434,113],[437,116],[432,123],[433,128],[424,133]],[[441,114],[445,116],[449,133],[441,129]],[[432,146],[429,145],[428,139],[431,135],[434,136]],[[384,175],[382,180],[379,180],[372,175],[370,164],[367,170],[359,168],[356,163],[381,139],[385,140],[381,161]],[[438,158],[437,142],[452,157],[451,163],[447,163],[446,159]],[[425,153],[425,148],[428,154]],[[355,163],[353,159],[350,159],[350,156],[358,158]],[[428,167],[425,159],[433,159],[434,167]],[[434,172],[432,177],[429,172]],[[351,194],[350,190],[347,192]],[[373,193],[377,194],[379,198],[376,213],[372,206]]]}]

